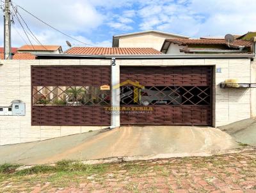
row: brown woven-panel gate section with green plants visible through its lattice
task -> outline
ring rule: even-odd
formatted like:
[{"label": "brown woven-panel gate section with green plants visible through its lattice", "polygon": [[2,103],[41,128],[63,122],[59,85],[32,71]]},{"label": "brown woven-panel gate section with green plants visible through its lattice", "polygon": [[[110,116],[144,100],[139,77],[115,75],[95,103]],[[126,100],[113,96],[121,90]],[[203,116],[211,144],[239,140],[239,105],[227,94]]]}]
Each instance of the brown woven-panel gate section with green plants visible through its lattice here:
[{"label": "brown woven-panel gate section with green plants visible through its lattice", "polygon": [[110,125],[110,85],[110,66],[32,66],[31,125]]}]

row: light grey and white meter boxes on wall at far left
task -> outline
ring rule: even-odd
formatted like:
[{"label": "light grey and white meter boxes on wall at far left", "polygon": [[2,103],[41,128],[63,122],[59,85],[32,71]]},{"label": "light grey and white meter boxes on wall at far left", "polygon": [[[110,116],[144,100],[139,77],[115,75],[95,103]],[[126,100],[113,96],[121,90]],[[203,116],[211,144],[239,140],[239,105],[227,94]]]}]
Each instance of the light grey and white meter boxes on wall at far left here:
[{"label": "light grey and white meter boxes on wall at far left", "polygon": [[25,115],[25,103],[21,100],[13,100],[12,105],[9,107],[0,107],[0,116],[1,115]]}]

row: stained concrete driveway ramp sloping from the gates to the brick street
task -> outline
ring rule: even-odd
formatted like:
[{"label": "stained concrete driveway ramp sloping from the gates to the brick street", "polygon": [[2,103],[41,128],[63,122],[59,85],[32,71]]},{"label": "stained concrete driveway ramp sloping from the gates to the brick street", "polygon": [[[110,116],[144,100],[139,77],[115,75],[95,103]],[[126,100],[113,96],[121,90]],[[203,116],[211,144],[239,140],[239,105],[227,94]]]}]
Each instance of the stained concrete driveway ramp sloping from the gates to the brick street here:
[{"label": "stained concrete driveway ramp sloping from the gates to the brick street", "polygon": [[0,164],[47,164],[137,155],[193,155],[239,148],[236,141],[211,127],[120,127],[47,141],[0,146]]}]

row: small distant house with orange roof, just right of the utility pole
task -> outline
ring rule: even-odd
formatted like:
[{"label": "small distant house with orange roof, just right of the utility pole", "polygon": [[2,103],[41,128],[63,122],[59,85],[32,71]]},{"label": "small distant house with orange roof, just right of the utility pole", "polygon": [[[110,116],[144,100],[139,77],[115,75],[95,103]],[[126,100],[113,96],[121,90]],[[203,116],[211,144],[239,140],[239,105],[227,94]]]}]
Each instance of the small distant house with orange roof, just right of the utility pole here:
[{"label": "small distant house with orange roof, just right of the utility pole", "polygon": [[61,54],[62,48],[60,45],[23,45],[17,49],[18,53],[44,53],[44,54]]}]

